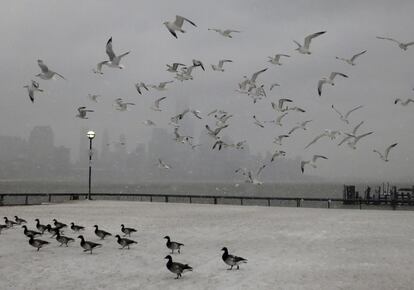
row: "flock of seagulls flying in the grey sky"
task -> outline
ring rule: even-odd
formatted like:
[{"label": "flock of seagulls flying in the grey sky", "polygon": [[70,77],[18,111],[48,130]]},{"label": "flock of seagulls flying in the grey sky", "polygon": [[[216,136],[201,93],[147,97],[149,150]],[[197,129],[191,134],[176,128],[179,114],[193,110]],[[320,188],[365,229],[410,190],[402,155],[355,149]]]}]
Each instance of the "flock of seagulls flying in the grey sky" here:
[{"label": "flock of seagulls flying in the grey sky", "polygon": [[[186,33],[186,30],[184,28],[188,28],[188,36],[191,37],[190,34],[200,33],[200,28],[197,24],[197,21],[190,20],[187,17],[183,17],[180,15],[176,15],[174,20],[171,21],[165,21],[163,24],[165,25],[167,32],[164,37],[174,37],[177,40],[179,40],[179,33]],[[218,35],[223,37],[223,41],[233,41],[233,37],[237,37],[239,40],[243,38],[243,31],[237,30],[237,29],[222,29],[222,28],[206,28],[207,31],[213,31],[216,32]],[[237,35],[235,35],[237,34]],[[296,52],[302,55],[305,55],[306,58],[312,58],[312,52],[313,52],[313,46],[312,43],[318,41],[323,42],[324,37],[328,35],[329,32],[322,30],[315,33],[311,33],[304,37],[303,42],[298,42],[296,40],[293,40],[293,42],[297,45]],[[181,37],[181,35],[180,35]],[[375,39],[375,37],[373,37]],[[376,37],[379,40],[387,40],[394,42],[398,44],[398,47],[402,49],[403,51],[406,51],[410,48],[411,45],[414,44],[414,42],[399,42],[393,38],[385,37],[385,36],[377,36]],[[93,68],[93,72],[97,75],[103,75],[105,74],[107,69],[123,69],[125,66],[124,64],[128,64],[128,55],[131,53],[131,50],[125,51],[122,54],[116,54],[114,51],[114,43],[115,39],[111,36],[106,41],[105,44],[105,52],[108,56],[107,60],[103,60],[98,62],[95,65],[95,68]],[[104,43],[102,43],[104,44]],[[102,45],[103,48],[103,45]],[[366,54],[369,52],[365,49],[358,50],[359,52],[353,54],[350,58],[344,58],[344,57],[338,57],[336,56],[335,59],[338,60],[338,66],[340,63],[345,63],[347,65],[351,66],[357,66],[356,60],[358,59],[358,62],[363,61],[363,58]],[[295,57],[295,52],[293,53],[275,53],[273,56],[268,56],[267,62],[270,63],[271,66],[289,66],[289,60]],[[266,57],[263,57],[264,60],[266,60]],[[123,64],[121,64],[121,61]],[[49,67],[45,64],[45,62],[41,59],[37,61],[38,66],[41,69],[41,73],[37,74],[36,77],[42,79],[42,80],[51,80],[56,79],[57,77],[61,78],[62,80],[66,80],[66,78],[55,71],[52,71],[49,69]],[[237,65],[237,60],[235,59],[220,59],[218,58],[217,62],[214,64],[211,64],[211,70],[217,73],[226,73],[225,67],[227,66],[235,66]],[[161,82],[157,82],[157,84],[150,84],[146,83],[142,80],[136,82],[134,85],[136,88],[136,91],[139,95],[145,95],[148,93],[151,93],[151,91],[155,90],[156,92],[168,92],[169,86],[173,86],[175,82],[187,82],[194,79],[195,75],[194,72],[200,71],[202,74],[202,71],[205,71],[209,67],[200,59],[192,59],[189,60],[186,64],[185,62],[172,62],[170,64],[166,64],[166,71],[172,74],[172,78],[176,80],[165,80]],[[245,170],[235,170],[236,173],[242,173],[243,176],[247,177],[245,182],[246,183],[252,183],[252,184],[262,184],[262,182],[259,180],[259,174],[262,171],[262,169],[267,168],[270,163],[277,163],[277,161],[280,158],[284,158],[289,151],[287,148],[284,148],[283,146],[283,140],[284,139],[293,139],[295,138],[295,135],[300,134],[301,131],[306,131],[308,129],[308,126],[312,126],[314,124],[314,120],[308,119],[308,118],[298,118],[297,116],[302,115],[306,116],[307,110],[304,109],[300,104],[294,104],[293,99],[287,98],[287,97],[279,97],[278,100],[270,100],[268,103],[266,101],[263,101],[268,98],[268,93],[270,91],[274,92],[276,87],[281,87],[281,85],[277,82],[273,82],[271,84],[264,84],[260,81],[260,78],[262,74],[268,73],[269,67],[263,67],[262,69],[253,72],[245,74],[244,77],[240,80],[238,84],[235,84],[235,91],[238,92],[241,95],[246,95],[247,97],[251,98],[253,101],[253,105],[256,106],[271,106],[271,108],[275,111],[274,119],[272,120],[263,120],[261,116],[259,116],[257,113],[252,115],[252,123],[255,124],[258,128],[258,130],[270,128],[270,124],[274,124],[281,129],[285,130],[286,133],[284,134],[275,134],[274,137],[274,145],[276,145],[275,148],[272,148],[271,151],[275,152],[272,155],[271,160],[265,160],[264,164],[259,164],[259,168],[261,170],[257,172],[257,174],[252,174],[254,172],[254,169],[245,169]],[[197,73],[197,75],[199,75]],[[250,77],[249,77],[250,76]],[[317,83],[315,83],[315,91],[317,95],[319,95],[320,100],[322,102],[327,102],[328,99],[326,97],[327,94],[329,94],[329,89],[327,85],[334,86],[336,81],[346,81],[346,79],[352,78],[352,75],[344,74],[339,71],[332,71],[328,76],[322,77],[319,79]],[[41,93],[44,90],[40,88],[41,85],[34,80],[31,80],[29,85],[25,85],[24,88],[27,89],[29,98],[31,102],[35,101],[35,93]],[[267,91],[268,90],[268,91]],[[322,94],[323,92],[323,94]],[[323,95],[323,97],[322,97]],[[99,95],[96,94],[89,94],[88,98],[94,102],[98,103],[98,100],[100,98]],[[153,114],[168,114],[167,110],[163,107],[163,102],[168,100],[168,96],[162,96],[158,97],[153,101],[152,106],[149,108],[149,110],[152,111]],[[407,98],[395,98],[394,104],[400,104],[401,106],[408,106],[412,102],[414,102],[414,99]],[[260,104],[260,105],[257,105]],[[116,98],[114,100],[114,107],[115,110],[118,110],[120,112],[126,112],[128,110],[132,110],[133,106],[135,106],[135,102],[124,100],[123,98]],[[316,168],[316,161],[319,159],[328,159],[327,156],[324,154],[321,154],[321,152],[318,152],[318,144],[317,142],[324,137],[327,137],[327,139],[334,141],[338,136],[342,136],[343,139],[341,142],[338,143],[338,146],[341,146],[342,144],[346,143],[350,148],[356,149],[356,145],[359,142],[362,142],[362,140],[368,139],[368,137],[371,134],[374,134],[375,132],[373,130],[366,130],[364,133],[357,135],[357,130],[362,125],[364,121],[359,121],[359,125],[356,127],[352,127],[352,124],[356,122],[353,118],[351,118],[351,113],[355,112],[356,110],[363,110],[365,107],[363,105],[355,104],[353,108],[350,110],[344,112],[341,112],[335,104],[330,104],[330,107],[332,110],[338,115],[339,119],[343,121],[346,126],[350,127],[349,130],[341,130],[336,128],[323,128],[320,131],[322,133],[314,136],[311,140],[308,141],[307,145],[304,146],[304,150],[309,150],[312,148],[314,152],[312,152],[313,158],[310,160],[302,160],[300,164],[298,164],[298,169],[300,168],[301,172],[305,172],[308,170],[308,168]],[[90,109],[87,106],[79,106],[77,109],[76,117],[80,119],[88,119],[93,118],[94,114],[96,114],[99,111],[99,108]],[[201,108],[186,108],[182,113],[179,113],[178,115],[169,117],[170,122],[168,125],[172,126],[172,132],[171,136],[172,139],[175,140],[179,144],[183,144],[183,146],[189,146],[192,150],[195,150],[197,147],[205,144],[194,144],[193,136],[184,136],[182,132],[180,131],[180,126],[182,122],[204,122],[203,128],[205,128],[205,134],[211,137],[211,144],[208,145],[211,150],[221,151],[221,150],[230,150],[230,149],[236,149],[236,150],[243,150],[246,147],[246,140],[243,141],[237,141],[235,143],[229,143],[225,138],[222,138],[222,132],[225,130],[226,132],[230,132],[231,126],[236,126],[236,123],[231,122],[231,118],[233,117],[233,113],[227,112],[221,108],[217,108],[214,111],[203,114],[203,110]],[[286,128],[284,120],[295,120],[297,121],[297,125],[295,125],[292,128]],[[215,123],[215,126],[209,122],[209,120],[213,121]],[[207,124],[206,124],[207,123]],[[154,122],[151,118],[147,120],[141,121],[141,124],[148,126],[148,127],[157,127],[162,126],[163,124],[158,124],[158,122]],[[165,124],[164,124],[165,125]],[[353,128],[353,129],[352,129]],[[377,154],[378,157],[384,161],[388,162],[392,158],[391,150],[396,148],[398,142],[396,140],[384,140],[384,143],[386,144],[392,144],[390,147],[386,147],[385,152],[381,153],[378,151],[378,149],[373,149],[373,153]],[[271,146],[274,146],[271,145]],[[164,158],[161,159],[161,157],[158,157],[158,162],[156,163],[154,160],[154,164],[156,164],[160,169],[166,169],[170,170],[174,168],[174,164],[170,165],[167,160],[164,160]],[[319,161],[318,161],[319,163]],[[310,165],[310,166],[305,166]],[[257,166],[257,165],[255,165]]]}]

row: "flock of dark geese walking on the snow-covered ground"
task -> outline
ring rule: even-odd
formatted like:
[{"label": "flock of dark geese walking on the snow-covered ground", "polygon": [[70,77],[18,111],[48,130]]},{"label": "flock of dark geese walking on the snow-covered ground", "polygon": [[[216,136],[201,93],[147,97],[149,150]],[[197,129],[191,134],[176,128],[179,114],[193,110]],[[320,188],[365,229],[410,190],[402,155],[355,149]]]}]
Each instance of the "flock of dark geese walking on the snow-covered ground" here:
[{"label": "flock of dark geese walking on the snow-covered ground", "polygon": [[[82,248],[83,252],[92,255],[95,249],[99,249],[104,246],[103,241],[105,239],[108,240],[112,237],[112,234],[110,232],[99,229],[98,225],[93,226],[93,228],[95,228],[95,230],[93,231],[93,233],[96,236],[95,240],[98,239],[95,242],[93,240],[85,239],[84,234],[86,234],[87,227],[77,225],[74,222],[71,222],[70,226],[68,226],[67,224],[62,223],[57,219],[53,219],[52,221],[54,227],[52,227],[51,224],[42,224],[40,220],[36,218],[34,220],[36,222],[34,224],[36,230],[31,230],[27,227],[27,220],[23,218],[20,218],[18,216],[14,216],[14,220],[9,219],[8,217],[3,218],[4,224],[0,224],[0,235],[3,236],[3,230],[13,230],[17,229],[17,227],[20,226],[23,229],[23,235],[26,236],[26,238],[28,238],[28,244],[35,248],[36,251],[40,251],[40,249],[44,247],[52,246],[51,242],[47,241],[46,238],[48,238],[49,240],[54,238],[57,242],[57,247],[69,247],[76,241],[75,239],[79,239],[79,246]],[[74,236],[66,236],[64,235],[64,231],[68,231],[71,234],[74,234]],[[138,244],[137,241],[130,239],[131,234],[137,233],[137,230],[135,228],[126,227],[124,224],[121,224],[120,231],[122,234],[116,234],[112,237],[112,239],[116,239],[116,242],[120,246],[120,250],[130,250],[131,246]],[[46,236],[48,234],[50,235],[49,237]],[[7,239],[7,236],[4,238]],[[165,236],[164,239],[167,240],[165,246],[168,250],[171,250],[171,252],[165,257],[165,259],[168,260],[166,267],[170,272],[177,275],[175,279],[179,279],[183,273],[193,270],[193,268],[188,264],[182,264],[173,261],[172,259],[171,255],[174,255],[174,251],[176,251],[176,253],[178,254],[181,254],[181,248],[184,246],[184,244],[177,241],[172,241],[169,236]],[[105,247],[106,246],[110,246],[109,243],[105,243]],[[230,266],[228,270],[232,270],[234,266],[237,267],[237,270],[239,270],[241,264],[247,263],[247,259],[229,254],[227,247],[223,247],[221,251],[224,251],[221,257],[223,262],[226,265]]]}]

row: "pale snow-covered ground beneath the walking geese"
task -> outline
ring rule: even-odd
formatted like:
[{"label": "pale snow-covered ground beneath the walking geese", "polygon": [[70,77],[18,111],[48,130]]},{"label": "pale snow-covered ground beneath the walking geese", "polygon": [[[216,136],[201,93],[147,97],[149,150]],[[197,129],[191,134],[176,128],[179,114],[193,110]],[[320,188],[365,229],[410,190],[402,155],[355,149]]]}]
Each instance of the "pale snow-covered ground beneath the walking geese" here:
[{"label": "pale snow-covered ground beneath the walking geese", "polygon": [[[414,289],[414,214],[411,211],[335,210],[254,206],[82,201],[0,207],[0,216],[21,216],[87,227],[115,235],[135,227],[131,250],[114,238],[93,255],[77,239],[68,248],[55,240],[39,252],[23,229],[0,235],[0,289]],[[76,237],[71,230],[66,235]],[[173,259],[193,272],[165,267],[165,235],[185,244]],[[220,249],[247,258],[227,271]]]}]

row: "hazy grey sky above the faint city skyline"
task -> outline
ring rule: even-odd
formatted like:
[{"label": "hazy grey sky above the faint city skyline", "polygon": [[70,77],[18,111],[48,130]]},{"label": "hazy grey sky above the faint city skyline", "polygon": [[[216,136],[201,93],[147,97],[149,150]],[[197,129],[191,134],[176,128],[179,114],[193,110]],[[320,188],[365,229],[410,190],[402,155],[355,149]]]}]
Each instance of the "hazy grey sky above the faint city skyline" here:
[{"label": "hazy grey sky above the faint city skyline", "polygon": [[[176,113],[176,103],[188,98],[190,107],[204,115],[215,108],[233,113],[226,134],[235,140],[246,139],[255,152],[273,151],[274,136],[288,132],[299,121],[314,120],[309,130],[295,132],[284,146],[292,158],[310,158],[312,154],[329,158],[320,162],[312,174],[327,178],[408,178],[414,169],[414,104],[401,107],[393,101],[396,97],[414,97],[414,46],[402,51],[394,43],[375,37],[414,41],[413,11],[414,1],[409,0],[3,1],[0,134],[27,137],[33,126],[50,125],[56,144],[70,147],[77,156],[81,128],[95,130],[98,142],[107,128],[114,140],[124,133],[132,149],[150,137],[151,129],[142,124],[146,119],[172,132],[168,120]],[[187,33],[175,39],[162,23],[173,20],[176,14],[191,19],[198,27],[184,24]],[[208,31],[210,27],[242,33],[227,39]],[[327,33],[312,42],[312,55],[294,51],[293,40],[302,42],[306,35],[321,30]],[[111,36],[115,53],[131,50],[123,59],[125,69],[104,67],[104,75],[95,75],[92,69],[107,59],[105,44]],[[354,67],[335,59],[362,50],[368,52]],[[267,62],[267,56],[275,53],[292,57],[283,59],[282,66],[274,66]],[[39,58],[67,81],[34,77],[39,73]],[[173,80],[165,64],[190,64],[193,58],[208,66],[205,72],[197,69],[193,81],[177,81],[162,93],[152,90],[140,96],[136,92],[136,81]],[[234,62],[226,64],[223,73],[212,71],[210,64],[224,58]],[[244,75],[265,67],[269,69],[259,83],[266,85],[268,97],[253,105],[249,97],[235,89]],[[331,71],[346,73],[349,79],[338,79],[334,87],[326,86],[322,97],[318,97],[317,82]],[[45,90],[36,94],[34,104],[22,88],[31,79],[37,79]],[[281,87],[269,92],[273,82]],[[88,93],[102,95],[101,101],[91,102]],[[164,111],[153,112],[149,107],[161,96],[167,96],[161,105]],[[118,97],[136,106],[127,112],[116,111],[113,100]],[[255,126],[254,114],[263,120],[276,117],[270,102],[280,97],[292,98],[307,112],[289,114],[282,128],[273,124],[264,129]],[[324,129],[350,130],[332,111],[332,104],[341,111],[364,105],[351,115],[351,125],[365,120],[360,133],[375,133],[362,140],[355,151],[336,146],[339,140],[320,140],[303,150]],[[89,120],[75,117],[81,105],[96,111]],[[213,123],[212,119],[195,118],[185,122],[195,123],[196,136],[205,124]],[[399,145],[391,151],[389,163],[372,152],[374,148],[383,151],[393,142]]]}]

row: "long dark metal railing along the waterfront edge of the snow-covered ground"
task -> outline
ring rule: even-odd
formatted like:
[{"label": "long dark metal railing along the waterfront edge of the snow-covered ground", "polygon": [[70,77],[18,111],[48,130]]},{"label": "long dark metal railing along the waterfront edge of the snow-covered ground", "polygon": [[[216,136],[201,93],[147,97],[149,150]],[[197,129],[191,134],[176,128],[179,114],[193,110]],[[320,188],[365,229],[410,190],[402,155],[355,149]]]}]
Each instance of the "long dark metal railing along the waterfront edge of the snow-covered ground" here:
[{"label": "long dark metal railing along the waterfront edge of the snow-covered ground", "polygon": [[[143,194],[143,193],[92,193],[92,199],[208,203],[233,205],[293,206],[319,208],[359,208],[370,205],[391,206],[396,209],[402,205],[414,205],[414,200],[345,200],[342,198],[313,197],[272,197],[272,196],[238,196],[238,195],[191,195],[191,194]],[[87,199],[88,193],[0,193],[0,205],[34,205],[42,203],[65,202]],[[313,206],[312,206],[313,205]],[[315,206],[316,205],[316,206]]]}]

